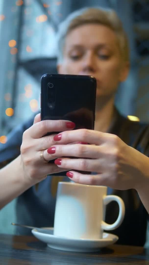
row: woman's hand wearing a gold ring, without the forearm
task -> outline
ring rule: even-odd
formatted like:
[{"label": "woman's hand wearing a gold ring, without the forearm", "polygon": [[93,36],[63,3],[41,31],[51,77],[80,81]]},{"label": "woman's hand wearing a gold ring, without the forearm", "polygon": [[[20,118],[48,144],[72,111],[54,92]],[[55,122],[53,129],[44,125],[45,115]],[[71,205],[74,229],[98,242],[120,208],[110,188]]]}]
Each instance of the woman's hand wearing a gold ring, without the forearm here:
[{"label": "woman's hand wearing a gold ring, without the forearm", "polygon": [[[47,175],[66,171],[58,168],[54,163],[46,163],[56,159],[56,156],[48,154],[47,149],[55,144],[54,135],[44,136],[47,133],[72,130],[75,123],[64,120],[45,120],[41,121],[40,114],[34,118],[34,124],[27,129],[22,138],[21,144],[21,163],[24,178],[34,185],[45,179]],[[44,150],[44,151],[43,151]],[[40,158],[43,151],[43,158]]]}]

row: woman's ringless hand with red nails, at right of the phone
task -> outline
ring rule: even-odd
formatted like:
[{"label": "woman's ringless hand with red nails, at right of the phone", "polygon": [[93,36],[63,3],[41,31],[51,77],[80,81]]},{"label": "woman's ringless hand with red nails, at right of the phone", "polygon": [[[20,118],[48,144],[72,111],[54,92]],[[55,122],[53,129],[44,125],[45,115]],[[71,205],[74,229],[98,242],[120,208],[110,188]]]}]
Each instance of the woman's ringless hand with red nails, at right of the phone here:
[{"label": "woman's ringless hand with red nails, at right of the phone", "polygon": [[[99,131],[80,129],[65,131],[54,137],[55,145],[48,149],[49,158],[63,170],[83,170],[96,175],[67,172],[74,182],[89,185],[106,185],[114,189],[138,188],[146,182],[143,172],[148,157],[129,147],[118,136]],[[71,144],[87,142],[89,144]],[[67,157],[79,158],[67,158]],[[65,158],[64,158],[65,157]],[[144,162],[143,162],[144,161]]]}]

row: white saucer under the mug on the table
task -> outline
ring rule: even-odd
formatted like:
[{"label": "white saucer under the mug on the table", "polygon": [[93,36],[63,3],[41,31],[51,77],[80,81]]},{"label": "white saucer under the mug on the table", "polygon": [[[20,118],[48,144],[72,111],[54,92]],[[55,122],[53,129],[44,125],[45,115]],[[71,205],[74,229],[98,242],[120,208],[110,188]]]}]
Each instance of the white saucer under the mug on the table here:
[{"label": "white saucer under the mug on the table", "polygon": [[93,252],[99,251],[100,248],[114,244],[119,238],[116,235],[103,233],[102,239],[71,239],[65,237],[58,237],[53,235],[53,228],[46,227],[49,229],[43,233],[38,232],[37,229],[32,229],[31,232],[39,240],[47,243],[50,248],[66,250],[66,251],[76,251],[76,252]]}]

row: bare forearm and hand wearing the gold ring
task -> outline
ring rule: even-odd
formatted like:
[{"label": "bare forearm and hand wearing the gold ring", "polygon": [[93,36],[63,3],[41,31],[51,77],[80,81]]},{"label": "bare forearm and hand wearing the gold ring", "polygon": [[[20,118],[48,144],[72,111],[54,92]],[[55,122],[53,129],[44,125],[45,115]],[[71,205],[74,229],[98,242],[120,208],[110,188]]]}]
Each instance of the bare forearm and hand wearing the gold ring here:
[{"label": "bare forearm and hand wearing the gold ring", "polygon": [[[45,163],[44,160],[48,162],[53,159],[47,149],[54,140],[53,135],[44,135],[47,132],[72,129],[68,126],[68,121],[40,121],[40,114],[35,116],[33,126],[23,134],[21,154],[0,170],[0,209],[47,175],[65,171],[55,164]],[[40,159],[42,150],[44,160]]]}]

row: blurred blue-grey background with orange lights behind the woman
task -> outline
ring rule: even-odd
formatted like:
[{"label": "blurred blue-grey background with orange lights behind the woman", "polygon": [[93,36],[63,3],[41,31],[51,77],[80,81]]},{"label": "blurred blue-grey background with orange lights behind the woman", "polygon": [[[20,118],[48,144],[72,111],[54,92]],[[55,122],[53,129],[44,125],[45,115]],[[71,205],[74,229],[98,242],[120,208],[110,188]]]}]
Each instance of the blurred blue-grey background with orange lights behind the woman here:
[{"label": "blurred blue-grey background with orange lights behind the woman", "polygon": [[[40,78],[56,73],[55,33],[70,12],[113,8],[130,43],[131,70],[115,104],[125,116],[149,121],[148,0],[0,0],[0,144],[19,123],[40,111]],[[0,211],[0,232],[13,233],[15,200]]]}]

